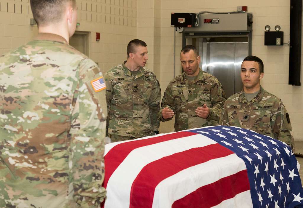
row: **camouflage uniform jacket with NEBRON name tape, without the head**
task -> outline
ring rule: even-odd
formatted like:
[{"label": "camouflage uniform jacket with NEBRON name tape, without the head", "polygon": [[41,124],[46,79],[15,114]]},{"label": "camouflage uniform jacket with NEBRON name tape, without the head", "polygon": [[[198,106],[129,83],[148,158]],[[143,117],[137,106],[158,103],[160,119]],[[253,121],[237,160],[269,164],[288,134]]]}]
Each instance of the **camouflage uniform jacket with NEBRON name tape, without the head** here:
[{"label": "camouflage uniform jacket with NEBRON name tape, without the head", "polygon": [[222,109],[220,125],[239,126],[257,133],[279,139],[293,148],[289,131],[291,123],[282,101],[262,87],[250,102],[244,91],[229,97]]}]

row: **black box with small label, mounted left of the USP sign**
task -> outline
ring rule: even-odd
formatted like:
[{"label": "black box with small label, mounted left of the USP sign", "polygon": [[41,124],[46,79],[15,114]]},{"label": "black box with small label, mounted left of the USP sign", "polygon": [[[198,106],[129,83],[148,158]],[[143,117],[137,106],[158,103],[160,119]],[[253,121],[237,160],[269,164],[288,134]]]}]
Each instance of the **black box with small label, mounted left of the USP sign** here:
[{"label": "black box with small label, mounted left of the USP sign", "polygon": [[171,27],[195,27],[195,13],[171,13]]}]

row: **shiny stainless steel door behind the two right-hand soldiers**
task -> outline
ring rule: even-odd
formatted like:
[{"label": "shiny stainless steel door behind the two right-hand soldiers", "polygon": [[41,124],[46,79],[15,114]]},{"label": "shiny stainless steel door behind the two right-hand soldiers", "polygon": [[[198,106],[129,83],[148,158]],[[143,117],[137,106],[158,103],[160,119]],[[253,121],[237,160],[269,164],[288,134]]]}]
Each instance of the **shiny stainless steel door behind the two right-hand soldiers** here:
[{"label": "shiny stainless steel door behind the two right-hand soldiers", "polygon": [[203,42],[199,52],[202,70],[217,77],[227,97],[242,89],[241,63],[248,55],[248,42]]}]

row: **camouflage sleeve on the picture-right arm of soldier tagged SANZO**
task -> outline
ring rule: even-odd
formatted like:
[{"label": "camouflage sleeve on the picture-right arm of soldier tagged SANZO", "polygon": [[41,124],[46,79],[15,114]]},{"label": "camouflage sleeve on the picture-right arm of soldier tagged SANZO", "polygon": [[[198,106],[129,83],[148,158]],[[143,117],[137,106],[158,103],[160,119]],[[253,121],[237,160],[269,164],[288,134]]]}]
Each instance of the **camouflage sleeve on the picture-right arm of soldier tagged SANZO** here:
[{"label": "camouflage sleeve on the picture-right arm of soldier tagged SANZO", "polygon": [[157,119],[157,114],[160,110],[161,88],[158,80],[155,78],[151,96],[148,100],[149,116],[151,118],[151,126],[153,131],[158,131],[160,121]]}]

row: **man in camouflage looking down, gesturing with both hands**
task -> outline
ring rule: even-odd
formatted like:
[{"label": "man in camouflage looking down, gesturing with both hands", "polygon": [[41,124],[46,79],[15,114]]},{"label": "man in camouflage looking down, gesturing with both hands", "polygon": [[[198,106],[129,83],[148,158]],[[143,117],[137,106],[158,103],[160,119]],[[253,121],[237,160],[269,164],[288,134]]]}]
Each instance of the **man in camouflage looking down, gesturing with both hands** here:
[{"label": "man in camouflage looking down, gesturing with both hands", "polygon": [[226,99],[221,83],[199,68],[194,46],[186,45],[180,57],[184,72],[168,84],[158,119],[168,121],[176,114],[175,131],[218,125]]}]

